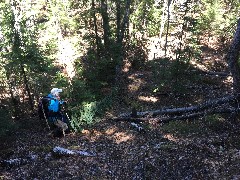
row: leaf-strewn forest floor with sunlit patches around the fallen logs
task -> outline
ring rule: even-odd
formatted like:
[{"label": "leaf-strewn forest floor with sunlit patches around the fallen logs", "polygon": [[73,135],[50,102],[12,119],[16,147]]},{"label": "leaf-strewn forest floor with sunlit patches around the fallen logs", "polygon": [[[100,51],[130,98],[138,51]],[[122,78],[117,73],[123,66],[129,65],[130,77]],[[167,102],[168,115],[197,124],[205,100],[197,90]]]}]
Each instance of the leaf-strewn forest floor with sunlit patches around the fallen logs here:
[{"label": "leaf-strewn forest floor with sunlit patches around the fallen logs", "polygon": [[[128,72],[121,102],[82,133],[53,138],[38,118],[28,119],[25,128],[1,139],[0,179],[240,179],[240,128],[228,115],[146,122],[144,131],[111,119],[131,107],[184,107],[230,94],[231,77],[213,73],[227,72],[223,53],[203,48],[201,61],[185,74],[176,66],[169,74],[171,67],[163,60]],[[55,147],[91,156],[58,155]]]}]

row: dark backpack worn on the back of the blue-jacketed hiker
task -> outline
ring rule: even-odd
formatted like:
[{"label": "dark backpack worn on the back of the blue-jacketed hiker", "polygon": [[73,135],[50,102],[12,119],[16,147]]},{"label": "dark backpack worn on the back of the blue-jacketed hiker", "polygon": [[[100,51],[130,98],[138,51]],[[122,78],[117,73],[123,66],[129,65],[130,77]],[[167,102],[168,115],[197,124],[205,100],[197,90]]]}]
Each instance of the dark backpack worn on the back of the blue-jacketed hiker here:
[{"label": "dark backpack worn on the back of the blue-jacketed hiker", "polygon": [[49,109],[48,106],[50,104],[50,101],[53,98],[50,98],[48,96],[44,96],[41,98],[38,102],[38,116],[40,119],[46,119],[49,117]]}]

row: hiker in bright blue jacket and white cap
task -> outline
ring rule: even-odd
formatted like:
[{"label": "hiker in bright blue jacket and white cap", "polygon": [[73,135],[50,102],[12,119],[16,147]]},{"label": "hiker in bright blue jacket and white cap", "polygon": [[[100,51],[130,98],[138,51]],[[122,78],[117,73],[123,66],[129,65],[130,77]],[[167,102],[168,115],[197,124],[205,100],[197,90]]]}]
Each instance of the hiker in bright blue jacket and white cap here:
[{"label": "hiker in bright blue jacket and white cap", "polygon": [[49,120],[63,131],[66,131],[68,129],[68,121],[66,116],[64,116],[60,110],[60,106],[65,103],[60,99],[61,92],[62,89],[53,88],[51,93],[47,96],[50,98],[50,103],[48,106]]}]

